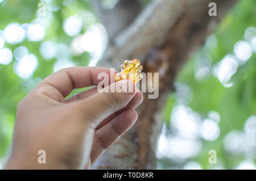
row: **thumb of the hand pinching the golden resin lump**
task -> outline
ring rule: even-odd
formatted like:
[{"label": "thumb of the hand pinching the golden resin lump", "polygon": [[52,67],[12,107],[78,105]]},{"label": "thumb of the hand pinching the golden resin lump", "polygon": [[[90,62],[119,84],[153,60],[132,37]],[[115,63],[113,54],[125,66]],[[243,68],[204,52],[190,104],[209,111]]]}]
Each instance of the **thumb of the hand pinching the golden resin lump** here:
[{"label": "thumb of the hand pinching the golden resin lump", "polygon": [[92,127],[97,127],[106,117],[124,108],[137,91],[135,84],[128,79],[112,83],[100,91],[98,87],[96,94],[78,102],[79,110]]}]

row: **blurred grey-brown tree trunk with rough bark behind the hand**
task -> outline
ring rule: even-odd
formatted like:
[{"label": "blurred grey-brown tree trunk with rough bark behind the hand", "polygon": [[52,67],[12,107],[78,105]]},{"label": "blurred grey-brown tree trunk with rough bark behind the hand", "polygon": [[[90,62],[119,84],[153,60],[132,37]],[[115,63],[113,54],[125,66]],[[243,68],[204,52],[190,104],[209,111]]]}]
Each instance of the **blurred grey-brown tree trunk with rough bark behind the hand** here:
[{"label": "blurred grey-brown tree trunk with rough bark behind the hand", "polygon": [[[209,16],[210,2],[216,2],[217,16]],[[155,169],[162,110],[175,75],[234,3],[235,0],[153,0],[130,27],[122,31],[119,28],[121,33],[111,36],[114,44],[100,65],[118,69],[123,60],[139,58],[145,73],[159,72],[159,97],[148,99],[148,93],[144,93],[144,101],[137,109],[137,123],[92,169]]]}]

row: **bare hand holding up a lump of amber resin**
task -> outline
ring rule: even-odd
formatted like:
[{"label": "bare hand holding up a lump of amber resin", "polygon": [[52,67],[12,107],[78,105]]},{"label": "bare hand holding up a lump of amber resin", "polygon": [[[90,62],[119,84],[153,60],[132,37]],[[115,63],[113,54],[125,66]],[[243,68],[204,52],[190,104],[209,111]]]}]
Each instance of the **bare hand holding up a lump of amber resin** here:
[{"label": "bare hand holding up a lump of amber resin", "polygon": [[[89,169],[137,120],[141,91],[104,92],[97,87],[69,98],[73,89],[97,86],[100,67],[67,68],[39,83],[19,104],[11,155],[4,169]],[[115,82],[122,90],[133,82]],[[135,87],[135,85],[134,85]],[[108,89],[108,87],[105,87]],[[38,163],[38,151],[46,163]]]}]

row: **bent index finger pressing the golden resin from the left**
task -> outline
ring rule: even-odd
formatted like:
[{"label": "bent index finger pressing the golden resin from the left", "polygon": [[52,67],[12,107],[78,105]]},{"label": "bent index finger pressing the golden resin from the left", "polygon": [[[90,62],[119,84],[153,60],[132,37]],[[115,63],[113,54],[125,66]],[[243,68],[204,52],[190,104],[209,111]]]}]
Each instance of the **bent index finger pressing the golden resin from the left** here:
[{"label": "bent index finger pressing the golden resin from the left", "polygon": [[57,71],[44,79],[40,85],[50,85],[59,90],[64,96],[68,96],[73,89],[82,87],[97,86],[102,79],[98,79],[98,74],[108,74],[108,81],[114,81],[115,70],[101,67],[72,67]]}]

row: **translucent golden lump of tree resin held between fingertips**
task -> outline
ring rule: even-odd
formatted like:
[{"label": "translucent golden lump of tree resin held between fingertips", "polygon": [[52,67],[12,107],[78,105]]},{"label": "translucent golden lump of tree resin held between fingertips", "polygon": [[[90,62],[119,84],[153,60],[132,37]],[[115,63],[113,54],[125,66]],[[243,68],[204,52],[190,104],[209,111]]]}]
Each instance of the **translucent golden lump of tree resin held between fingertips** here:
[{"label": "translucent golden lump of tree resin held between fingertips", "polygon": [[143,66],[138,59],[124,61],[121,65],[121,69],[121,72],[115,74],[115,81],[130,79],[134,83],[137,83],[142,79],[141,71],[143,69]]}]

